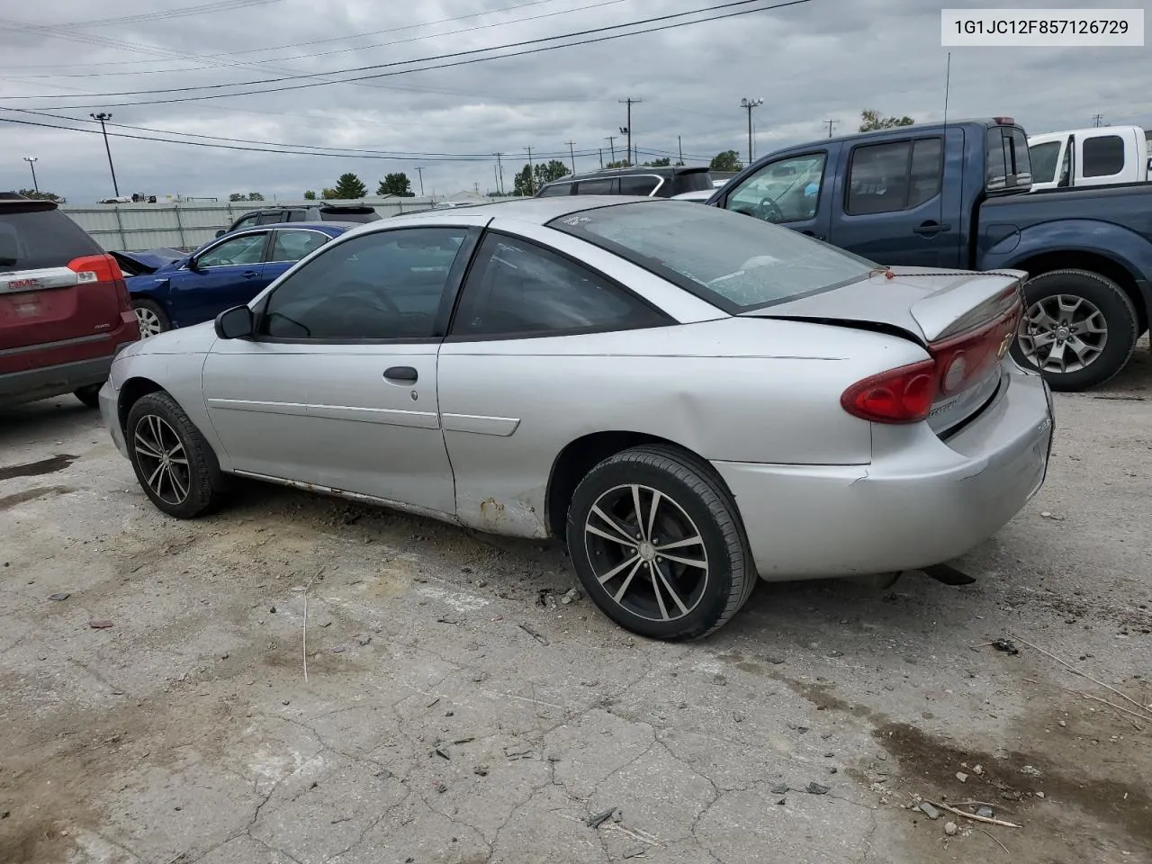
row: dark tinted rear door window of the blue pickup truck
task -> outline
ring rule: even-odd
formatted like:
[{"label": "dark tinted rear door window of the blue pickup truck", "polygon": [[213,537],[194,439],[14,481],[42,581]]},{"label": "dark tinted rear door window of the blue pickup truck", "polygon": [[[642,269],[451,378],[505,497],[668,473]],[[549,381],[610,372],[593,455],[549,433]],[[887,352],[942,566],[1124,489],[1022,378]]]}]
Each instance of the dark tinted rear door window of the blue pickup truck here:
[{"label": "dark tinted rear door window of the blue pickup truck", "polygon": [[852,215],[895,213],[931,200],[940,191],[941,156],[940,138],[856,147],[846,211]]}]

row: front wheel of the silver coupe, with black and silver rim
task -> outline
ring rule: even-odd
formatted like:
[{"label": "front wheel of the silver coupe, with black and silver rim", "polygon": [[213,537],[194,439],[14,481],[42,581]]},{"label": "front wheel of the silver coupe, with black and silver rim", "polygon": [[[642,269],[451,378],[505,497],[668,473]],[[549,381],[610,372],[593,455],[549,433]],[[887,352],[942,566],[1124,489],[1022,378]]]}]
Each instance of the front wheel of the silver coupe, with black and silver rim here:
[{"label": "front wheel of the silver coupe, with black and silver rim", "polygon": [[136,479],[158,509],[188,520],[221,503],[225,482],[220,463],[167,393],[150,393],[132,406],[124,439]]}]

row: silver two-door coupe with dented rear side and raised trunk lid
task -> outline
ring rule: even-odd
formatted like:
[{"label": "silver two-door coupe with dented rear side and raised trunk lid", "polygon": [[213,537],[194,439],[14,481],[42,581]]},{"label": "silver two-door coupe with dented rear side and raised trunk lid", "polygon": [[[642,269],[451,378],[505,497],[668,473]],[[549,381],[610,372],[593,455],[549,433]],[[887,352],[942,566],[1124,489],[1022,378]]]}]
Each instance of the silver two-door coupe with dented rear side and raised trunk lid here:
[{"label": "silver two-door coupe with dented rear side and raised trunk lid", "polygon": [[237,475],[556,537],[608,616],[689,638],[757,577],[938,564],[1024,506],[1052,401],[1006,354],[1023,276],[682,202],[430,211],[124,349],[100,408],[173,516]]}]

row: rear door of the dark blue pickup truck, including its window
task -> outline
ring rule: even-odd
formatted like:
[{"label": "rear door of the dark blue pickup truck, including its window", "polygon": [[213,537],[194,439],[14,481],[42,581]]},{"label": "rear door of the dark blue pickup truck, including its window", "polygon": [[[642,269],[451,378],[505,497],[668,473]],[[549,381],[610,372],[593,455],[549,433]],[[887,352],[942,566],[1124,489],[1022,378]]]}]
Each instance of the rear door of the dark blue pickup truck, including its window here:
[{"label": "rear door of the dark blue pickup truck, including its window", "polygon": [[[958,157],[964,130],[947,132]],[[943,153],[940,132],[854,145],[836,180],[828,240],[879,264],[960,266],[961,183],[943,183]]]}]

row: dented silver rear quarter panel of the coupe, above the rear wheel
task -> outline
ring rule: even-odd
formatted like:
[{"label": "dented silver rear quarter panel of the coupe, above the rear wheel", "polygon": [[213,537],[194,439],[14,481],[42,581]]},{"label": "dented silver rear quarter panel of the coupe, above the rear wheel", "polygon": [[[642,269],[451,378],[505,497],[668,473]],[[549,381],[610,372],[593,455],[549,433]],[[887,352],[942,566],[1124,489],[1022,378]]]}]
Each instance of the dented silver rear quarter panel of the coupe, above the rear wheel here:
[{"label": "dented silver rear quarter panel of the coupe, above the rear wheel", "polygon": [[438,382],[457,517],[546,537],[553,464],[597,432],[653,435],[712,461],[867,464],[871,424],[844,412],[840,395],[925,356],[894,336],[745,318],[447,342]]}]

